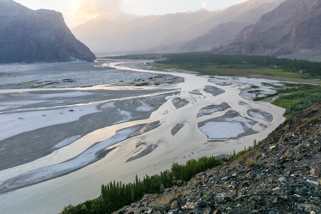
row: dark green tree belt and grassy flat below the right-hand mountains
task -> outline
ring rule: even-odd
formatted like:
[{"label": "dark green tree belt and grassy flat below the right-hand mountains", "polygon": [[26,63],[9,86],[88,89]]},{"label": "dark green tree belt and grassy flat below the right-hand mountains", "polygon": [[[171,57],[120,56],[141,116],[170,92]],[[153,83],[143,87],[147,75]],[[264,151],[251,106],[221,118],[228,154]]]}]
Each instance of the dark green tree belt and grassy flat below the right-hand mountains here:
[{"label": "dark green tree belt and grassy flat below the right-hand mountains", "polygon": [[307,60],[278,59],[273,56],[216,55],[209,52],[163,54],[160,64],[209,75],[260,75],[290,78],[321,76],[321,63]]}]

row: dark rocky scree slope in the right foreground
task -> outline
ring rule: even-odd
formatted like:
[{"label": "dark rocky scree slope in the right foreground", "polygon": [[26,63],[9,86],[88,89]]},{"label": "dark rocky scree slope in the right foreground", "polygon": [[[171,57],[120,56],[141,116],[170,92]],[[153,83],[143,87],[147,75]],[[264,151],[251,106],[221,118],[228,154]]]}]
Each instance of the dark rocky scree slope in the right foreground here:
[{"label": "dark rocky scree slope in the right foreground", "polygon": [[162,195],[146,194],[118,213],[321,213],[320,169],[318,103],[236,161],[199,173]]}]

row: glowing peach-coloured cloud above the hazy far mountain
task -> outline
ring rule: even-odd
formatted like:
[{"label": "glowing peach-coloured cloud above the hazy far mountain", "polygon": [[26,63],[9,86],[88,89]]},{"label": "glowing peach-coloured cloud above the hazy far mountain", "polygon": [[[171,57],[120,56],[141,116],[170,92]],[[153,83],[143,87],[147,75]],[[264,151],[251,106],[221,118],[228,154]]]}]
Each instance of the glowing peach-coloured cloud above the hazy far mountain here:
[{"label": "glowing peach-coloured cloud above the hazy far mountain", "polygon": [[98,15],[113,20],[124,14],[120,6],[121,0],[73,0],[72,21],[80,24]]}]

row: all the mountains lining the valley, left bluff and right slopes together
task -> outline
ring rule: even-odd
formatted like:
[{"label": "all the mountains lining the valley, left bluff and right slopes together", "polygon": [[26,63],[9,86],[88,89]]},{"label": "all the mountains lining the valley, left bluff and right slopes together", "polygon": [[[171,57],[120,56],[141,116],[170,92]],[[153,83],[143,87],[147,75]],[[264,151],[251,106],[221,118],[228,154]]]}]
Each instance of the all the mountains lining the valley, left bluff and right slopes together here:
[{"label": "all the mountains lining the valley, left bluff and right slopes together", "polygon": [[90,49],[97,54],[211,51],[321,61],[320,20],[318,0],[248,0],[220,11],[102,14],[70,31],[59,12],[0,0],[0,63],[93,61]]}]

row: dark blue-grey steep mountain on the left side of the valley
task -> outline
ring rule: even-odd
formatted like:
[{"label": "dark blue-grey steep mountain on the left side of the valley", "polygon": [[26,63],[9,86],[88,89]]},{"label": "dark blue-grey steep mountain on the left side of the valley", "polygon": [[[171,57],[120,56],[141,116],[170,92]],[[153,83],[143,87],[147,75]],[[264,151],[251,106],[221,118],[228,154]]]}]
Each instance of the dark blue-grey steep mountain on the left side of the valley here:
[{"label": "dark blue-grey steep mountain on the left side of the valley", "polygon": [[79,42],[53,10],[31,10],[0,0],[0,63],[93,61],[95,55]]}]

